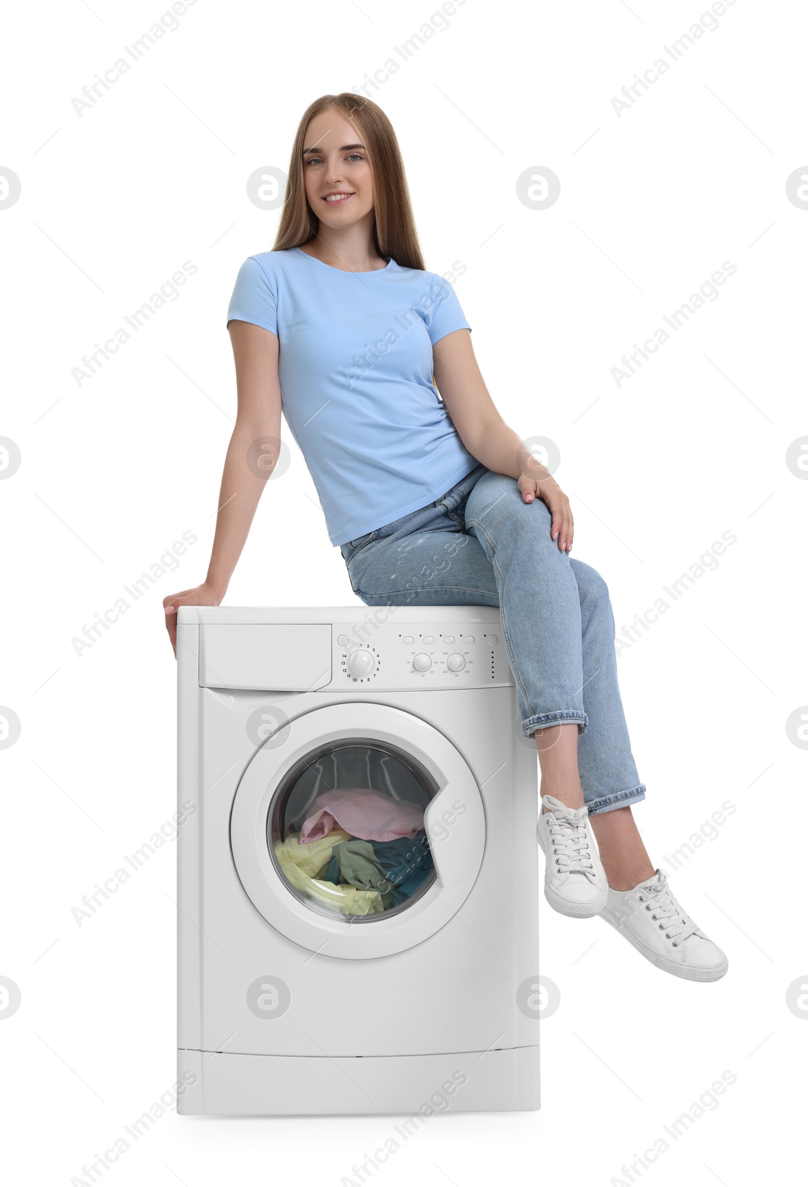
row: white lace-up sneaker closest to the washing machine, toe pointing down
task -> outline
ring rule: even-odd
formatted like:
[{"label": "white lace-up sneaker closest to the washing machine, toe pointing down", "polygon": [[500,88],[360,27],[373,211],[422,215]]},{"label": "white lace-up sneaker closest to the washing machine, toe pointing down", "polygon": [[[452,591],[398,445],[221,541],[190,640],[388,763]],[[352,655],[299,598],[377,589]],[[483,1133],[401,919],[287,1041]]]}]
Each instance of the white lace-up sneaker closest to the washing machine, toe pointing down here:
[{"label": "white lace-up sneaker closest to the washing machine, toe pointing down", "polygon": [[545,851],[545,899],[554,910],[573,919],[598,915],[609,900],[606,875],[594,837],[588,808],[568,808],[545,795],[536,837]]}]

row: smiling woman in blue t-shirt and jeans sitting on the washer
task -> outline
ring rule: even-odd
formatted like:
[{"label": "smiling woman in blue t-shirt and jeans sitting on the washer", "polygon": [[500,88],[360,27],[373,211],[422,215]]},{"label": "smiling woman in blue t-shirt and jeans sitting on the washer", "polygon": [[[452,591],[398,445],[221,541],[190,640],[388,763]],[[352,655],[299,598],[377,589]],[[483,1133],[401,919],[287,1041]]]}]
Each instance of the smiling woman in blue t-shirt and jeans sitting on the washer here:
[{"label": "smiling woman in blue t-shirt and jeans sitting on the washer", "polygon": [[723,977],[724,953],[673,897],[631,815],[645,789],[606,585],[570,558],[567,496],[498,415],[453,290],[424,271],[395,133],[375,103],[326,95],[305,113],[274,249],[243,264],[228,329],[237,420],[205,582],[164,602],[174,647],[178,608],[227,592],[276,463],[282,392],[365,604],[501,608],[539,751],[551,906],[599,914],[677,977]]}]

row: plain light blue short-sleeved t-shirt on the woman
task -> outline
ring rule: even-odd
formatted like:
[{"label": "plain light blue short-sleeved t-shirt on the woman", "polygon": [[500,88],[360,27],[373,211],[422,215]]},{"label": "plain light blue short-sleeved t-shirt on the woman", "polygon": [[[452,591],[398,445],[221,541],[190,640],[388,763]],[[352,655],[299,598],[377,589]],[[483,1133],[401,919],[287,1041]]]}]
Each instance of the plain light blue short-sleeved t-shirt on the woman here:
[{"label": "plain light blue short-sleeved t-shirt on the woman", "polygon": [[262,252],[241,266],[233,319],[278,335],[284,414],[332,544],[425,507],[477,465],[432,382],[434,343],[471,329],[441,277]]}]

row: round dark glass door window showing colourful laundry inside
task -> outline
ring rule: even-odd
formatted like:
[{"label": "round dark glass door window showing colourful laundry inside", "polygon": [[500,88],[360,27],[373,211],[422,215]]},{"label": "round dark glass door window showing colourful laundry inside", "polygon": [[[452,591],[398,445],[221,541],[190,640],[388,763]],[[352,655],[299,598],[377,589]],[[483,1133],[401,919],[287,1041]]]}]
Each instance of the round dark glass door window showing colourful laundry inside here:
[{"label": "round dark glass door window showing colourful laundry inside", "polygon": [[397,914],[435,877],[424,812],[438,786],[403,750],[348,738],[306,755],[275,792],[269,853],[291,891],[351,922]]}]

